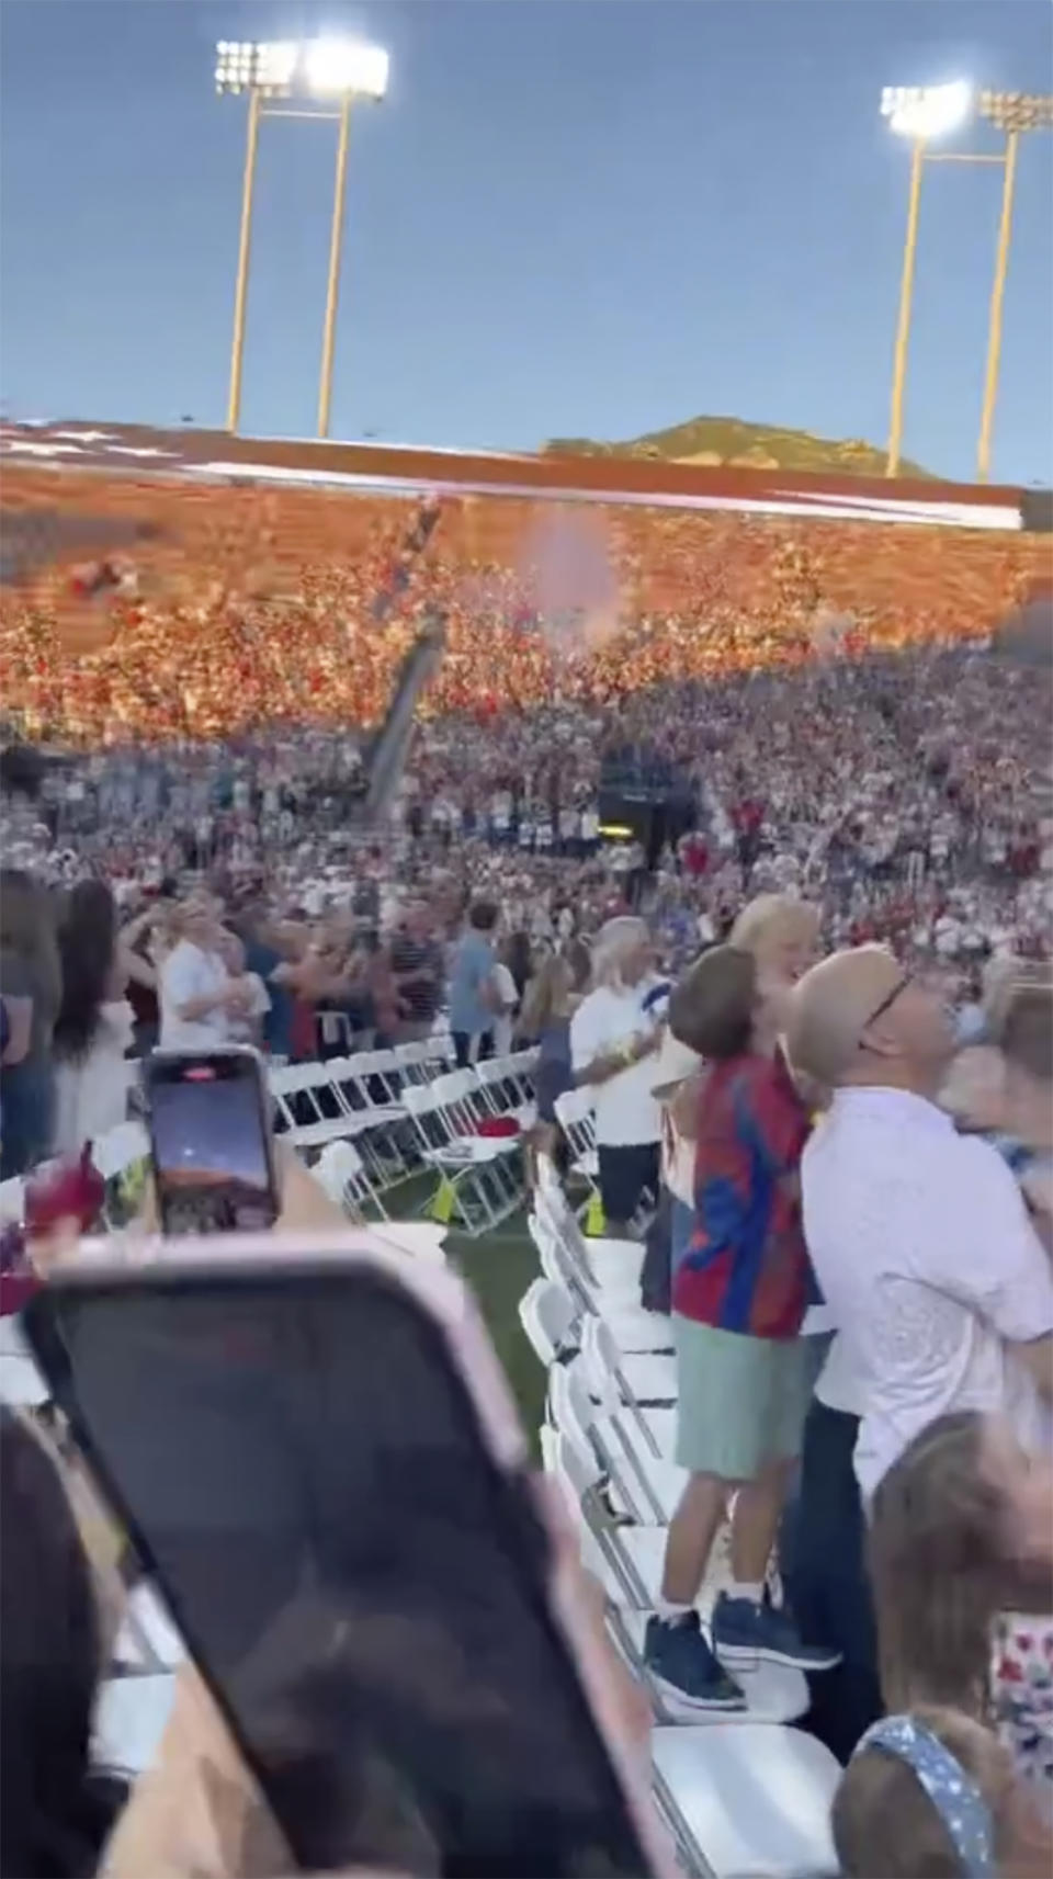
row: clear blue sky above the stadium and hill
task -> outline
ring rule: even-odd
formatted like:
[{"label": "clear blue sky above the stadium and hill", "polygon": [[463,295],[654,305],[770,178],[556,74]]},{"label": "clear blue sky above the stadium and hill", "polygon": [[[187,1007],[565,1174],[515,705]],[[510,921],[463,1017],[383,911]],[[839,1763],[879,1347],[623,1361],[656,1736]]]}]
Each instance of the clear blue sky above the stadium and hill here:
[{"label": "clear blue sky above the stadium and hill", "polygon": [[[534,447],[707,413],[884,442],[886,83],[1053,81],[1045,0],[4,0],[0,383],[222,425],[244,101],[216,38],[357,30],[333,432]],[[983,132],[976,133],[983,147]],[[333,126],[263,126],[243,428],[308,436]],[[972,475],[1000,173],[923,186],[906,453]],[[1025,139],[995,474],[1053,481],[1053,137]]]}]

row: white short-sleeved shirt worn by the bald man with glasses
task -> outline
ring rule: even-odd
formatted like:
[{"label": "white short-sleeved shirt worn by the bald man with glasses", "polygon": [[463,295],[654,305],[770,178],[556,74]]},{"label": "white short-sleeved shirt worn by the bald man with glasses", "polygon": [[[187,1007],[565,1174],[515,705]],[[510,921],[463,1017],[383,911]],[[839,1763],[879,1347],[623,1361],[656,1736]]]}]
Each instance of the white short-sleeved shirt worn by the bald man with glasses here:
[{"label": "white short-sleeved shirt worn by the bald man with glasses", "polygon": [[1049,1452],[1049,1405],[1012,1345],[1053,1332],[1053,1270],[997,1150],[906,1090],[839,1090],[805,1146],[801,1199],[859,1389],[863,1496],[948,1409],[1002,1411]]}]

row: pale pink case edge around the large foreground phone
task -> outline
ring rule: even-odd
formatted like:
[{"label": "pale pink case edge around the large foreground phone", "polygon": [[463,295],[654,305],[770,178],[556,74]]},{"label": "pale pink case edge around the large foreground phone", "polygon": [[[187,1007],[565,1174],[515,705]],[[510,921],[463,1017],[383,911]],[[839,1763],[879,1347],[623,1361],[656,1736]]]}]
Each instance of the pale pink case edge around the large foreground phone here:
[{"label": "pale pink case edge around the large foreground phone", "polygon": [[[393,1229],[397,1231],[397,1227]],[[491,1462],[504,1475],[526,1475],[530,1456],[519,1422],[519,1413],[511,1398],[504,1370],[491,1343],[485,1323],[468,1287],[449,1270],[425,1265],[397,1246],[384,1244],[384,1227],[369,1227],[342,1235],[282,1235],[256,1236],[233,1235],[212,1238],[162,1240],[145,1238],[122,1246],[122,1257],[115,1261],[113,1240],[86,1240],[81,1244],[75,1265],[62,1266],[55,1274],[60,1287],[111,1287],[111,1285],[149,1285],[150,1278],[171,1278],[182,1268],[203,1274],[209,1270],[229,1274],[231,1266],[254,1266],[258,1270],[282,1270],[290,1278],[305,1272],[305,1266],[346,1266],[354,1270],[374,1270],[399,1283],[412,1295],[416,1304],[429,1313],[440,1328],[449,1360],[457,1368],[468,1398],[476,1411],[476,1422],[483,1447]],[[47,1375],[47,1340],[34,1336],[32,1310],[26,1321],[28,1342],[38,1362]],[[115,1499],[105,1481],[100,1481],[107,1499]],[[115,1509],[122,1516],[120,1507]],[[543,1524],[538,1509],[538,1524]],[[557,1635],[564,1644],[577,1680],[589,1702],[600,1742],[607,1753],[609,1766],[622,1791],[628,1817],[647,1856],[652,1879],[677,1879],[677,1864],[651,1798],[647,1768],[634,1755],[626,1742],[624,1723],[619,1714],[617,1682],[611,1674],[607,1648],[596,1635],[589,1620],[587,1603],[581,1597],[583,1582],[577,1573],[560,1571],[558,1552],[549,1545],[547,1605],[555,1620]],[[203,1667],[201,1674],[205,1676]],[[224,1702],[222,1691],[205,1676],[214,1700],[231,1729],[239,1749],[244,1746]],[[248,1757],[246,1757],[248,1761]]]}]

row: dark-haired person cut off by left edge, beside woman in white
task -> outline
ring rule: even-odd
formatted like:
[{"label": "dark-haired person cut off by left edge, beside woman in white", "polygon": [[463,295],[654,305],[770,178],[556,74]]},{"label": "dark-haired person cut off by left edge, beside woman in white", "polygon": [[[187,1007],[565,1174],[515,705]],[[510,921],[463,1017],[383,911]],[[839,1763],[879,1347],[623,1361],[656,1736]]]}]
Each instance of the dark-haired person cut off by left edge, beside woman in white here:
[{"label": "dark-haired person cut off by left edge, beside woman in white", "polygon": [[0,1067],[0,1180],[24,1174],[51,1152],[55,1067],[51,1037],[62,1005],[62,966],[51,896],[28,874],[0,874],[0,992],[26,1000],[30,1026],[19,1062]]}]

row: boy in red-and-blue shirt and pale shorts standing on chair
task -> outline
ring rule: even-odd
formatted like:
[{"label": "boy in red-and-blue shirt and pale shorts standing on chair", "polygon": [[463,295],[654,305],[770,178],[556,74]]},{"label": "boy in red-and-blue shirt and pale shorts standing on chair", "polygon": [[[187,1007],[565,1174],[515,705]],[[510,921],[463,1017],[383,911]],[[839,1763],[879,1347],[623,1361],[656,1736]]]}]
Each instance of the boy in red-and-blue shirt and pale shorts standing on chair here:
[{"label": "boy in red-and-blue shirt and pale shorts standing on chair", "polygon": [[[647,1661],[677,1700],[698,1710],[745,1708],[726,1665],[837,1663],[835,1650],[803,1644],[790,1616],[763,1599],[810,1383],[799,1206],[809,1116],[777,1048],[784,998],[784,979],[769,985],[752,953],[722,945],[701,955],[669,1002],[673,1035],[709,1073],[698,1110],[694,1231],[673,1274],[675,1458],[690,1479],[669,1524]],[[735,1488],[733,1576],[716,1599],[711,1648],[696,1601]]]}]

